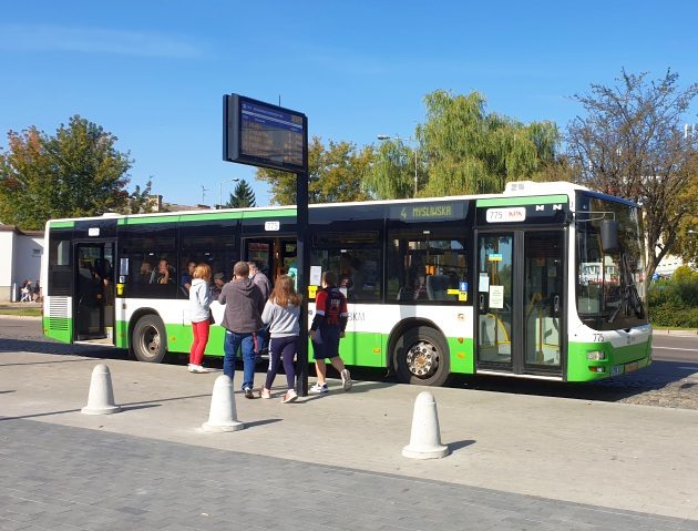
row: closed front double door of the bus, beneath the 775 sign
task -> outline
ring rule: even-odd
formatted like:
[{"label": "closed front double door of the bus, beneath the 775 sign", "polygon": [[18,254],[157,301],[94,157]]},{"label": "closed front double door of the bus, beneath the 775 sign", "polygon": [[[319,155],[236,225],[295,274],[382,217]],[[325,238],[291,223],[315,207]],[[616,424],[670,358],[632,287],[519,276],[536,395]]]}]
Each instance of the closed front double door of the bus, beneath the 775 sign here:
[{"label": "closed front double door of the bus, beneath the 775 sign", "polygon": [[562,229],[479,233],[479,371],[563,375],[564,242]]}]

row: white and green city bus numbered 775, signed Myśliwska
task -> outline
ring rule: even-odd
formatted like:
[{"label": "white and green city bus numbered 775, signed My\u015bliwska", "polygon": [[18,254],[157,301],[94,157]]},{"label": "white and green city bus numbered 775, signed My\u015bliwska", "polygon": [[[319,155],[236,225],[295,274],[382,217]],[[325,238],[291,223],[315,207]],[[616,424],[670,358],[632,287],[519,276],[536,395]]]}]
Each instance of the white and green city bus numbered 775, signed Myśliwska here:
[{"label": "white and green city bus numbered 775, signed My\u015bliwska", "polygon": [[[330,269],[348,299],[348,365],[424,386],[455,374],[588,381],[630,372],[651,362],[639,215],[629,201],[564,182],[311,205],[309,318]],[[296,237],[289,206],[51,219],[44,334],[141,361],[188,353],[187,263],[229,279],[235,262],[256,261],[274,280],[295,270]],[[224,308],[212,309],[220,323]],[[223,356],[224,333],[212,326],[207,356]]]}]

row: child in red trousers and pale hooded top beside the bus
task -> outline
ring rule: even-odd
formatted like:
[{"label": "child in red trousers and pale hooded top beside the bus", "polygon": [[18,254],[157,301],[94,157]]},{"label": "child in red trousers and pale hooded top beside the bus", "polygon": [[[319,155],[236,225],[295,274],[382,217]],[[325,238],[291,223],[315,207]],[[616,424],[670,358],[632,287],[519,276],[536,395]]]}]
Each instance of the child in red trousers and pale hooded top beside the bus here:
[{"label": "child in red trousers and pale hooded top beside the bus", "polygon": [[208,288],[211,282],[211,267],[208,264],[198,264],[192,273],[192,286],[189,288],[189,318],[194,331],[194,343],[189,349],[189,372],[211,372],[204,368],[204,350],[208,343],[208,326],[211,317],[212,295]]}]

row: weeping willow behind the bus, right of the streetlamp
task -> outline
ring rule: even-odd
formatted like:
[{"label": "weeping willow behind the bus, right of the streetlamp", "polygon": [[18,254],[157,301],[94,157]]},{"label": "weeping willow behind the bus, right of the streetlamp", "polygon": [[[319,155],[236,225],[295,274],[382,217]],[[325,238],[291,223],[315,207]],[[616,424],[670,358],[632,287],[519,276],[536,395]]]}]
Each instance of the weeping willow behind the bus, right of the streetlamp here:
[{"label": "weeping willow behind the bus, right of the streetlamp", "polygon": [[417,127],[417,139],[429,180],[419,195],[502,192],[507,181],[540,180],[557,163],[560,133],[552,122],[524,125],[487,114],[478,92],[438,90],[424,103],[427,123]]}]

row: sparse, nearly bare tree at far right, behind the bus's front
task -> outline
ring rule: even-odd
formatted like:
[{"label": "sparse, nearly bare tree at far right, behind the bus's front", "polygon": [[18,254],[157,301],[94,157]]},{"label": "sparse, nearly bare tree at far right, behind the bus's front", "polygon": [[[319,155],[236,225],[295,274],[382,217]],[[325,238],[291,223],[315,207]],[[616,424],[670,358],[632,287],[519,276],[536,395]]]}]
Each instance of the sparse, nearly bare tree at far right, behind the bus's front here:
[{"label": "sparse, nearly bare tree at far right, behind the bus's front", "polygon": [[695,186],[698,140],[684,135],[682,118],[698,94],[698,83],[678,86],[678,74],[647,80],[622,70],[614,86],[592,84],[574,99],[586,115],[567,131],[571,159],[581,184],[627,197],[644,206],[645,278],[676,249],[688,216],[698,211]]}]

